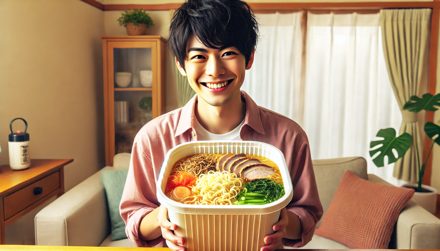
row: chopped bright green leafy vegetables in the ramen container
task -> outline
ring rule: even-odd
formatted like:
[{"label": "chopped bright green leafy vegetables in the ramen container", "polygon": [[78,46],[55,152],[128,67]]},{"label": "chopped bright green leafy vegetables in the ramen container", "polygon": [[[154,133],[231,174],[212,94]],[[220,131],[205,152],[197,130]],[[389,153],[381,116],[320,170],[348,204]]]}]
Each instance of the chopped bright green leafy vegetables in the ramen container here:
[{"label": "chopped bright green leafy vegetables in the ramen container", "polygon": [[284,196],[284,186],[271,179],[257,179],[246,183],[243,191],[238,194],[235,205],[263,205]]}]

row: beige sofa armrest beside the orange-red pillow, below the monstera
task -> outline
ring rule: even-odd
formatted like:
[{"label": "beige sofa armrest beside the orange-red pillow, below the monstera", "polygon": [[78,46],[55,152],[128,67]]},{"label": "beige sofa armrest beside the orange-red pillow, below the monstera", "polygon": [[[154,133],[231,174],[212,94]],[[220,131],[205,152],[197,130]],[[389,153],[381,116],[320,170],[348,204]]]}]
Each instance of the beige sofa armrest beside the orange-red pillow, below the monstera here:
[{"label": "beige sofa armrest beside the orange-red pillow, below the monstera", "polygon": [[[376,175],[368,180],[390,185]],[[440,219],[409,201],[400,212],[390,244],[396,249],[440,249]]]}]

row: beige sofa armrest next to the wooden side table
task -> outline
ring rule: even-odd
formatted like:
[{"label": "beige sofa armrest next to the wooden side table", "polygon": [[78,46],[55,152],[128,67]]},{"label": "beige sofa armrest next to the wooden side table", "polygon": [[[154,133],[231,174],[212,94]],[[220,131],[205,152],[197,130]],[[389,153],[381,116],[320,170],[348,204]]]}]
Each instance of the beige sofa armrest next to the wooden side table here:
[{"label": "beige sofa armrest next to the wooden side table", "polygon": [[35,216],[35,244],[99,246],[110,234],[101,171],[73,187]]}]

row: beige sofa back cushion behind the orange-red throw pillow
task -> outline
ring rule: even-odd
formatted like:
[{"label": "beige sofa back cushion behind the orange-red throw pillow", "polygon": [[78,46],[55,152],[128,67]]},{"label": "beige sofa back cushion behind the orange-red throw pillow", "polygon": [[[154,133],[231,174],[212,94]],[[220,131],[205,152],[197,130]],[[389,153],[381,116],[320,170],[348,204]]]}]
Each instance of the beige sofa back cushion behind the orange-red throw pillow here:
[{"label": "beige sofa back cushion behind the orange-red throw pillow", "polygon": [[319,200],[321,200],[324,209],[323,217],[316,224],[316,228],[319,228],[345,171],[352,171],[358,177],[368,180],[367,161],[363,157],[349,157],[312,160],[312,163]]}]

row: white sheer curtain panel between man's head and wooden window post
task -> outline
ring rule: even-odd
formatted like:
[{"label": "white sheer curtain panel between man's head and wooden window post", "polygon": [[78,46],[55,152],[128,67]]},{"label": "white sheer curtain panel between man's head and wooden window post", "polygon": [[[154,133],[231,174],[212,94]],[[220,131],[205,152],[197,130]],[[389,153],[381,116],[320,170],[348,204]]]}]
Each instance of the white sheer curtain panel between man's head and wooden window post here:
[{"label": "white sheer curtain panel between man's head and wooden window post", "polygon": [[258,105],[290,118],[302,114],[301,12],[257,14],[260,40],[242,90]]}]

